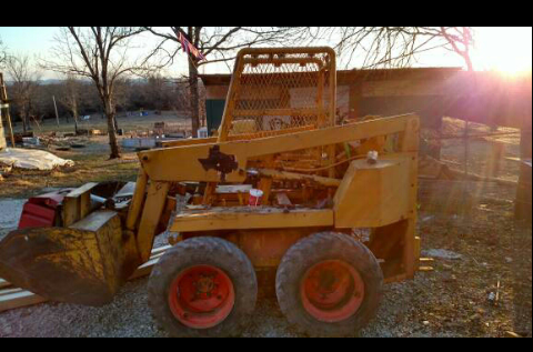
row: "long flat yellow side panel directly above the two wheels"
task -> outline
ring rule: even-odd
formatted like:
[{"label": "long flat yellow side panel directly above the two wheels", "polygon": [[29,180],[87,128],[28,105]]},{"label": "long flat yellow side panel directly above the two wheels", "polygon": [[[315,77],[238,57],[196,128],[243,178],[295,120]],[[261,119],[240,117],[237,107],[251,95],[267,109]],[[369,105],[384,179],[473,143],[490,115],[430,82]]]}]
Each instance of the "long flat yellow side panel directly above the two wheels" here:
[{"label": "long flat yellow side panel directly above the two wheels", "polygon": [[331,209],[283,209],[271,207],[231,207],[209,210],[184,211],[178,214],[171,231],[195,232],[239,229],[283,229],[332,227]]}]

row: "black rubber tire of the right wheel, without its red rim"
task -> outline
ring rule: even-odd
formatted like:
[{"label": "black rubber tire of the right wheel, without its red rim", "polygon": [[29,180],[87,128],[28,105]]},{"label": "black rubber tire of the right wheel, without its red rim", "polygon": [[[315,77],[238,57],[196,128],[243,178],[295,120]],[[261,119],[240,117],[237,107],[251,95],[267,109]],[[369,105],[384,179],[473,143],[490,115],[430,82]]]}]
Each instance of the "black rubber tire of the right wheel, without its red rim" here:
[{"label": "black rubber tire of the right wheel, without its red rim", "polygon": [[[328,323],[316,320],[303,308],[300,283],[309,268],[323,260],[342,260],[352,265],[364,282],[364,299],[352,316]],[[382,298],[383,272],[372,252],[344,233],[319,232],[292,245],[283,257],[275,276],[275,293],[288,321],[313,336],[354,335],[375,315]]]}]

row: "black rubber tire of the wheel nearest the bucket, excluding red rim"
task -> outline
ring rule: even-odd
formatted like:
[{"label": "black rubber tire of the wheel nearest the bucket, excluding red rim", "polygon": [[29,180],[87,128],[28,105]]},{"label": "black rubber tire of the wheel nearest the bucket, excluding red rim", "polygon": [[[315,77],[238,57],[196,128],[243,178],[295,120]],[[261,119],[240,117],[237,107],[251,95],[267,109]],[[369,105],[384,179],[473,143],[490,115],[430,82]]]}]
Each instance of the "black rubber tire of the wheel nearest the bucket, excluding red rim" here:
[{"label": "black rubber tire of the wheel nearest the bucket, excluding red rim", "polygon": [[[223,270],[233,283],[235,302],[224,321],[208,329],[185,326],[172,314],[168,296],[172,280],[182,270],[198,264]],[[248,257],[233,243],[220,238],[198,237],[179,242],[159,260],[148,282],[148,300],[160,328],[174,338],[234,336],[241,332],[255,308],[258,280]]]}]

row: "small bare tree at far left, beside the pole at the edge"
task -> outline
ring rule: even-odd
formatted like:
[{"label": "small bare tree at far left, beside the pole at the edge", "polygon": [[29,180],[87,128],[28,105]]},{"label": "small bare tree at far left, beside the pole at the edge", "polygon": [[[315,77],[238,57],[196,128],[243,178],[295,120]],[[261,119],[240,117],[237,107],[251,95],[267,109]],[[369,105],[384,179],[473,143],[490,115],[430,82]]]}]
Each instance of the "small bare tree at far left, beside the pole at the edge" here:
[{"label": "small bare tree at far left, beside the pole at the edge", "polygon": [[8,56],[6,69],[12,81],[9,87],[10,95],[22,120],[22,130],[27,132],[29,129],[31,130],[29,119],[33,93],[39,86],[40,72],[27,54]]}]

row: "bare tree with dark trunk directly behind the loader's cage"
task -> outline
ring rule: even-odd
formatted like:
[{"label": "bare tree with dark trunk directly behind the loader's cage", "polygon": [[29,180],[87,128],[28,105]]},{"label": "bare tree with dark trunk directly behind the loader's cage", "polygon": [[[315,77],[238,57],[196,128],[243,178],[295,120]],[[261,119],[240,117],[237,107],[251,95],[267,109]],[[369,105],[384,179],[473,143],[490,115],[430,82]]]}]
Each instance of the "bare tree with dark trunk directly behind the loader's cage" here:
[{"label": "bare tree with dark trunk directly behind the loader's cage", "polygon": [[[189,90],[192,111],[192,134],[198,135],[200,128],[200,92],[198,86],[198,69],[214,62],[228,62],[235,58],[237,50],[260,44],[286,44],[288,38],[296,32],[290,27],[169,27],[155,29],[147,27],[154,36],[161,38],[155,52],[164,51],[172,63],[180,50],[178,34],[185,37],[208,60],[188,57]],[[164,48],[165,42],[173,42],[172,50]],[[175,46],[178,44],[178,46]]]}]

